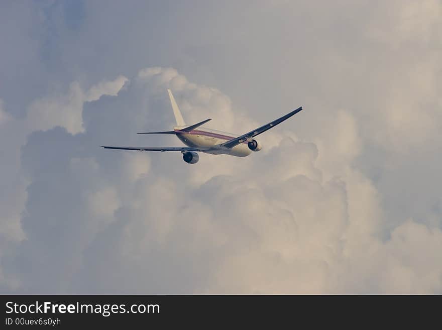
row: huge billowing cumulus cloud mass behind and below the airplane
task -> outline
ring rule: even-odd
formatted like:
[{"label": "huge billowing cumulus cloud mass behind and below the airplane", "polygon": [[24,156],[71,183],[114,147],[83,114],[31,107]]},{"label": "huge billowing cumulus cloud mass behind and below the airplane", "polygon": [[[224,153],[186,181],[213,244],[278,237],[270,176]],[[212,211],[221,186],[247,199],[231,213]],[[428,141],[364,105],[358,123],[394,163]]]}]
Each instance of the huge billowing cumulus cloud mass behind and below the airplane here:
[{"label": "huge billowing cumulus cloud mass behind and below the airplane", "polygon": [[[30,135],[22,154],[31,180],[26,240],[4,257],[6,277],[16,279],[4,281],[8,292],[440,291],[442,264],[430,252],[440,230],[409,219],[382,239],[380,194],[349,166],[361,137],[344,110],[316,143],[280,137],[245,159],[202,154],[190,166],[178,153],[98,148],[143,143],[134,133],[153,125],[148,118],[173,125],[169,87],[188,104],[185,119],[190,108],[203,117],[207,104],[234,117],[226,95],[155,67],[88,102],[84,133]],[[416,247],[433,258],[406,257]]]}]

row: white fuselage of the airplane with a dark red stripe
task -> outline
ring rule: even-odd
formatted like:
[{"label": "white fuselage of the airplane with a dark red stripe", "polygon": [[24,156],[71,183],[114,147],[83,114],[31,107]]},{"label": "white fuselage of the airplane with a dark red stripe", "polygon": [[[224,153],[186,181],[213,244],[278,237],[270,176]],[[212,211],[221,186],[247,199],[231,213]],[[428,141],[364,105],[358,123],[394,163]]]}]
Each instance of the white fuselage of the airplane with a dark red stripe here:
[{"label": "white fuselage of the airplane with a dark red stripe", "polygon": [[181,131],[182,128],[184,127],[174,127],[178,139],[180,139],[186,146],[199,148],[204,153],[213,155],[227,154],[237,157],[246,157],[252,153],[252,150],[250,150],[247,145],[247,141],[240,143],[233,148],[220,146],[220,144],[235,139],[239,135],[201,127],[190,132],[185,132]]}]

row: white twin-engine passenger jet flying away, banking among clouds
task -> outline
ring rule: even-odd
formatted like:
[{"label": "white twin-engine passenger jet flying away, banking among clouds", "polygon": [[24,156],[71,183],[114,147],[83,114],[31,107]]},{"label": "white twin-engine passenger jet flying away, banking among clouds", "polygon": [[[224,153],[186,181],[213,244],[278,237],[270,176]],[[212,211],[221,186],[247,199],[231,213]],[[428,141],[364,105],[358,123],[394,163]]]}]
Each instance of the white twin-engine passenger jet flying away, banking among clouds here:
[{"label": "white twin-engine passenger jet flying away, banking among clouds", "polygon": [[119,149],[119,150],[138,150],[138,151],[180,151],[183,154],[183,160],[188,164],[195,164],[199,160],[197,152],[206,154],[220,155],[226,154],[237,157],[249,156],[252,152],[257,152],[262,149],[262,144],[259,140],[254,139],[257,135],[264,133],[267,130],[275,127],[283,121],[289,119],[293,115],[302,110],[302,106],[296,110],[288,113],[263,125],[256,130],[250,131],[243,135],[236,135],[232,133],[201,128],[211,119],[206,119],[194,125],[186,125],[184,123],[181,112],[173,97],[172,91],[167,89],[169,93],[170,103],[172,104],[173,114],[175,115],[176,126],[173,131],[162,132],[142,132],[137,134],[171,134],[176,135],[187,147],[112,147],[100,146],[105,149]]}]

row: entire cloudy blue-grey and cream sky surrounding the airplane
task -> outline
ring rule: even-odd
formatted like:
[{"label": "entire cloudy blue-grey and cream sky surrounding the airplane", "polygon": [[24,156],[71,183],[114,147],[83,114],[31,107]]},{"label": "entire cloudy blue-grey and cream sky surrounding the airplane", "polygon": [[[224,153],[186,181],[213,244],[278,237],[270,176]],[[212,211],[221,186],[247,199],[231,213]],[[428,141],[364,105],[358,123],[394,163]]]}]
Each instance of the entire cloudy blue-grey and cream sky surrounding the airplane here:
[{"label": "entire cloudy blue-grey and cream sky surrounding the airplane", "polygon": [[[442,293],[442,1],[3,1],[0,293]],[[181,146],[299,106],[246,158]]]}]

